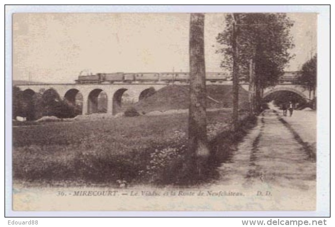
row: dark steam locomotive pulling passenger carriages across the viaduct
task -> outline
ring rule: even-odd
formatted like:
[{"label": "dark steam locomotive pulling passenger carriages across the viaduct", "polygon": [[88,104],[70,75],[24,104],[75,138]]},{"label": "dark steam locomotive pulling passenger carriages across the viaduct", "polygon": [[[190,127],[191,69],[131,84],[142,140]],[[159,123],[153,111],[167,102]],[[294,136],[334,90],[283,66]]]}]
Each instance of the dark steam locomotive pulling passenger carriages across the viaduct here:
[{"label": "dark steam locomotive pulling passenger carriages across the viaduct", "polygon": [[[206,80],[211,82],[230,81],[232,78],[227,73],[207,72]],[[185,82],[189,81],[187,72],[167,73],[97,73],[96,75],[79,76],[78,84],[112,84],[114,82]]]}]

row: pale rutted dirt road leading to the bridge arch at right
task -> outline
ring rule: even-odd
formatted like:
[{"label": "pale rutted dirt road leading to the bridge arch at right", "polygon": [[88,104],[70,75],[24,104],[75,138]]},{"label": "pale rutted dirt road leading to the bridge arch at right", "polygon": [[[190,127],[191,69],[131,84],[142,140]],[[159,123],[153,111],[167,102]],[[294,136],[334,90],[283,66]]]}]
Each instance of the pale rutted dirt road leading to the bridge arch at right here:
[{"label": "pale rutted dirt road leading to the bridge arch at right", "polygon": [[[316,163],[305,141],[294,130],[298,123],[291,127],[293,122],[293,118],[290,123],[283,121],[275,110],[265,110],[231,159],[219,167],[221,181],[242,188],[257,185],[305,191],[314,188]],[[306,135],[312,133],[304,132],[303,138]]]}]

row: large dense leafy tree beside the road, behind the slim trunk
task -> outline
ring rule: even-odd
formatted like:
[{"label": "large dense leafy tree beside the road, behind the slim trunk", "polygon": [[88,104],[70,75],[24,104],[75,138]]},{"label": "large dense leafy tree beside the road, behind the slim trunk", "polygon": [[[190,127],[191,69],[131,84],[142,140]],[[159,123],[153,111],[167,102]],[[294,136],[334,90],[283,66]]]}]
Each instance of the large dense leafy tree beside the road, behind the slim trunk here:
[{"label": "large dense leafy tree beside the road, behind the slim trunk", "polygon": [[[217,36],[217,41],[223,44],[218,52],[223,53],[221,67],[232,71],[234,18],[227,14],[225,19],[226,27]],[[239,77],[240,80],[249,81],[249,76],[254,76],[254,84],[251,85],[254,87],[249,90],[254,89],[254,108],[257,110],[263,89],[277,83],[285,65],[293,57],[289,53],[294,46],[290,35],[293,23],[282,13],[251,13],[239,14],[236,26],[239,27]],[[253,70],[253,74],[250,70]]]}]

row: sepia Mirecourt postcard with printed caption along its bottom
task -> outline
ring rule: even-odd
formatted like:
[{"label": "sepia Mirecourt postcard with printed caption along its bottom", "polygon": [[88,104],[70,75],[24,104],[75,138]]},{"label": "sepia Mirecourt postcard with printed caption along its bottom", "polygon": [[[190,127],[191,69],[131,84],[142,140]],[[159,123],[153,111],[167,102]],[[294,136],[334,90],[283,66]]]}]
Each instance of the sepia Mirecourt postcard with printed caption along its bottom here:
[{"label": "sepia Mirecourt postcard with printed caption along its bottom", "polygon": [[315,211],[317,20],[13,13],[11,209]]}]

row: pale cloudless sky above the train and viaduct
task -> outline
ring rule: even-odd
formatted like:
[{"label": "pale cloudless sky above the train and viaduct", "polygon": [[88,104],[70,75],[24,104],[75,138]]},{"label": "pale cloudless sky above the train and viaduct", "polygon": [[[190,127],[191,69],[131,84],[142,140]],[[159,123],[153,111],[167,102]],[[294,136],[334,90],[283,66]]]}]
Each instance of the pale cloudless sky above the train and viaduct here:
[{"label": "pale cloudless sky above the train and viaduct", "polygon": [[[288,14],[299,70],[316,52],[317,16]],[[205,16],[206,71],[219,72],[216,36],[225,14]],[[189,14],[17,13],[13,15],[13,79],[74,83],[82,72],[187,72]]]}]

